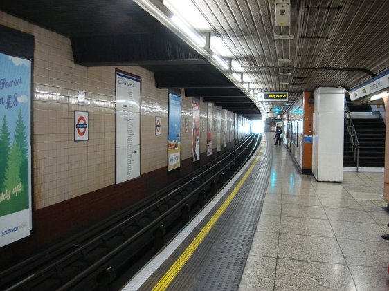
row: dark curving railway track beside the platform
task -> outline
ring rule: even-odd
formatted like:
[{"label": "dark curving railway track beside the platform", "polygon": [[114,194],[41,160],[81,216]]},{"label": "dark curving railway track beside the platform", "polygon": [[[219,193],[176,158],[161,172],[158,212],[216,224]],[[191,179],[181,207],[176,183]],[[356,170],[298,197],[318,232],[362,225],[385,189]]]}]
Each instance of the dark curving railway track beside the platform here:
[{"label": "dark curving railway track beside the platform", "polygon": [[260,135],[174,185],[0,272],[1,290],[117,290],[251,157]]}]

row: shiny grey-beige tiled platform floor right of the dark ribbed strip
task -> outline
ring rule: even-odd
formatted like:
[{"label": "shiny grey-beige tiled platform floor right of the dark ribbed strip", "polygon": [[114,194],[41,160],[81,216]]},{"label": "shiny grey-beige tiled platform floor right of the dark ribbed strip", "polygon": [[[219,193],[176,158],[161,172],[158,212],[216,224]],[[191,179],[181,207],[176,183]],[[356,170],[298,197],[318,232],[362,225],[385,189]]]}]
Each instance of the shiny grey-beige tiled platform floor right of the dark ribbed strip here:
[{"label": "shiny grey-beige tiled platform floor right of the dark ribbed strip", "polygon": [[269,184],[239,290],[389,290],[383,173],[342,183],[300,175],[273,146]]}]

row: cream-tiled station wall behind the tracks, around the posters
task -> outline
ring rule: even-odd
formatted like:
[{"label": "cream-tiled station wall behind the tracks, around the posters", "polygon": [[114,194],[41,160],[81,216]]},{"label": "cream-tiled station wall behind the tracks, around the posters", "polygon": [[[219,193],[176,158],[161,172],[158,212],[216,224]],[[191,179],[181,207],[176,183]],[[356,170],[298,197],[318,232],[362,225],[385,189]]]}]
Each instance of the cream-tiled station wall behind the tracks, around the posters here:
[{"label": "cream-tiled station wall behind the tracks, around the posters", "polygon": [[[82,216],[84,207],[89,205],[94,207],[93,203],[100,203],[98,206],[100,208],[96,209],[93,215],[96,216],[96,219],[99,216],[101,218],[117,209],[118,205],[122,205],[124,191],[134,189],[134,187],[126,185],[117,189],[114,185],[116,68],[142,78],[141,174],[147,176],[147,173],[159,171],[162,173],[161,175],[167,176],[168,90],[155,87],[154,73],[138,66],[89,68],[80,66],[73,62],[69,38],[1,11],[0,24],[35,37],[33,60],[33,201],[35,211],[43,210],[35,213],[35,226],[39,223],[46,225],[46,233],[49,233],[51,231],[59,232],[59,229],[65,227],[65,223],[73,223],[72,226],[66,225],[69,229],[80,226],[82,219],[84,219],[82,222],[85,224],[91,223],[93,219],[87,214],[82,218],[74,216]],[[86,93],[86,101],[83,106],[78,104],[78,91]],[[183,93],[184,91],[181,90],[181,120],[183,123],[181,128],[181,172],[193,167],[191,162],[192,98],[185,97]],[[202,125],[207,118],[207,104],[203,103],[202,100],[200,109]],[[89,111],[89,141],[87,142],[73,141],[75,110]],[[154,133],[155,116],[161,116],[162,126],[159,136]],[[189,121],[188,133],[184,133],[186,118]],[[217,120],[215,106],[213,118],[215,125]],[[203,165],[210,161],[210,158],[206,157],[207,133],[202,130],[202,126],[200,132],[201,165]],[[221,135],[223,143],[223,131]],[[233,133],[228,132],[228,136],[228,140],[231,142]],[[213,132],[213,147],[217,147],[216,126],[214,126]],[[215,156],[214,150],[213,157]],[[169,175],[166,180],[171,182],[178,174]],[[147,178],[154,182],[152,177]],[[147,178],[143,182],[139,182],[136,187],[144,189],[147,185]],[[149,185],[152,185],[150,181]],[[109,193],[106,193],[107,189]],[[134,190],[134,195],[136,193]],[[81,196],[85,198],[75,200]],[[111,206],[109,209],[109,205],[105,204],[103,200],[109,201],[111,197],[114,200],[112,203],[116,203],[116,206]],[[128,203],[128,201],[129,198],[125,202]],[[67,204],[63,204],[64,202]],[[60,206],[53,207],[53,205]],[[79,209],[75,209],[75,207],[79,207]],[[59,225],[51,222],[52,218],[60,221],[61,217],[64,220],[62,221],[63,225],[61,222]],[[70,218],[72,221],[69,221]],[[43,226],[39,225],[39,227]],[[62,234],[65,233],[64,230]],[[50,240],[42,238],[40,243],[48,241]],[[34,245],[39,245],[39,243],[31,243],[30,247]]]}]

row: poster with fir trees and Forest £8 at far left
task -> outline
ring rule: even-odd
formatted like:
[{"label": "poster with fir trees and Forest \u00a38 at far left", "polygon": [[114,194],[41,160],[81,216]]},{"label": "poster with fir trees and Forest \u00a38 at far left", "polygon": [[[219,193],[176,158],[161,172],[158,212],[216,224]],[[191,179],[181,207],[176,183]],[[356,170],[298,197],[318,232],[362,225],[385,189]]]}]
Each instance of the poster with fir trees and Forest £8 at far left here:
[{"label": "poster with fir trees and Forest \u00a38 at far left", "polygon": [[31,62],[0,53],[0,247],[30,235]]}]

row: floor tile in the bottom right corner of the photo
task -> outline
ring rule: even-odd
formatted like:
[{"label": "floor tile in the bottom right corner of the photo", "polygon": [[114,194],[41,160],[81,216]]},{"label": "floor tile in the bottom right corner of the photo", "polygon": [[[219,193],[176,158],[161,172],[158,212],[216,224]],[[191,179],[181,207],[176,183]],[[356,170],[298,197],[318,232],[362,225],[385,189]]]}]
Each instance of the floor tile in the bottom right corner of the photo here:
[{"label": "floor tile in the bottom right corner of the photo", "polygon": [[350,265],[350,271],[358,291],[389,290],[386,267],[361,267]]}]

